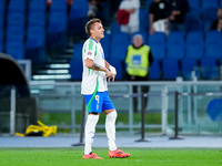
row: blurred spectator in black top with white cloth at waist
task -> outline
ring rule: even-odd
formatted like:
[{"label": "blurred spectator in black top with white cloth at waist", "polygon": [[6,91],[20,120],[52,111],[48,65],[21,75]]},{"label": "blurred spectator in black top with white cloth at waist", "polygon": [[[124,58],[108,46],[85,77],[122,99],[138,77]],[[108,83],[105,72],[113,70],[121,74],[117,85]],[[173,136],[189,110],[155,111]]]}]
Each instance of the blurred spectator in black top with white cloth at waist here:
[{"label": "blurred spectator in black top with white cloth at waist", "polygon": [[165,0],[153,0],[149,7],[150,13],[150,34],[154,32],[169,32],[169,21],[165,11]]}]

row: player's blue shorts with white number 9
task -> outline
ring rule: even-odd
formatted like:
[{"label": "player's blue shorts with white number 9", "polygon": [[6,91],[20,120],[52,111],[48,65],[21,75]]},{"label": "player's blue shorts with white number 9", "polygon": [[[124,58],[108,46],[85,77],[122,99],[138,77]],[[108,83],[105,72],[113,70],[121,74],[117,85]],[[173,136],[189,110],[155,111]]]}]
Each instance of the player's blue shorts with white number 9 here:
[{"label": "player's blue shorts with white number 9", "polygon": [[101,113],[105,110],[113,110],[114,105],[110,100],[108,92],[97,92],[95,96],[93,94],[84,95],[87,103],[88,113]]}]

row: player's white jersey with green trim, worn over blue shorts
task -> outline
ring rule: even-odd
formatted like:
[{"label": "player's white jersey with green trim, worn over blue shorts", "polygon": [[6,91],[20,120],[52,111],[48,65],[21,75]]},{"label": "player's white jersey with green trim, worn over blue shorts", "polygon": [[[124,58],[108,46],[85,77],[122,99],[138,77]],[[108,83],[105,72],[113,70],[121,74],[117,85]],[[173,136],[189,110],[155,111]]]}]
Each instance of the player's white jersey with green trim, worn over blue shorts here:
[{"label": "player's white jersey with green trim, worn over blue shorts", "polygon": [[87,68],[84,65],[87,59],[105,68],[103,49],[101,44],[92,38],[89,38],[82,48],[83,73],[81,94],[93,94],[94,91],[108,91],[105,73]]}]

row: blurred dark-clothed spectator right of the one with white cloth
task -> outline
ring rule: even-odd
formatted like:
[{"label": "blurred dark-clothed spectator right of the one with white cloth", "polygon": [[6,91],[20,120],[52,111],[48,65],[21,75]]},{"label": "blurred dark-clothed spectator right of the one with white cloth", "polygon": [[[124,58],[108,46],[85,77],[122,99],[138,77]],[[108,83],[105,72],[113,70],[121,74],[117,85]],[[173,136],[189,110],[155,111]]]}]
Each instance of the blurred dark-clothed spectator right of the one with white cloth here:
[{"label": "blurred dark-clothed spectator right of the one with white cloth", "polygon": [[188,0],[165,0],[170,31],[185,31],[185,14],[190,11]]}]

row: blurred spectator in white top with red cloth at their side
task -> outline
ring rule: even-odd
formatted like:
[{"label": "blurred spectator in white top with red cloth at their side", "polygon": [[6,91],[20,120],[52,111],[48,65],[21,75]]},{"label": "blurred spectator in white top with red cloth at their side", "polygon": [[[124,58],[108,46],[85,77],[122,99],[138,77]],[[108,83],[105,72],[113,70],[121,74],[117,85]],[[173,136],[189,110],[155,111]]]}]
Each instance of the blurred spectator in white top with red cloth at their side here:
[{"label": "blurred spectator in white top with red cloth at their side", "polygon": [[129,12],[128,23],[121,24],[121,31],[128,34],[140,31],[140,0],[122,0],[119,10]]}]

